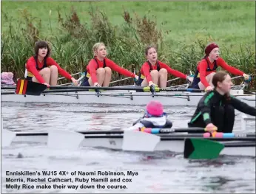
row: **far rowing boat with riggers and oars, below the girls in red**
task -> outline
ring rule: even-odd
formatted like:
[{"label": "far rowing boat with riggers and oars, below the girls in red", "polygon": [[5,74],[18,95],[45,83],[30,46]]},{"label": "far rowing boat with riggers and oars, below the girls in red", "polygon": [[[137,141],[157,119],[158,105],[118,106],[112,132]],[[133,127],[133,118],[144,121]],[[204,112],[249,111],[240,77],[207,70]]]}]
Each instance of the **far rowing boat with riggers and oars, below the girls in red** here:
[{"label": "far rowing boat with riggers and oars, below the girls in red", "polygon": [[[32,82],[27,83],[27,91],[21,88],[17,91],[17,88],[15,92],[11,91],[15,87],[4,87],[2,89],[5,91],[1,91],[1,102],[146,105],[150,100],[158,100],[163,105],[195,106],[205,94],[204,91],[198,89],[175,87],[152,89],[140,86],[101,88],[55,86],[50,90],[45,90],[45,87],[45,85]],[[244,94],[243,86],[240,89],[235,87],[231,94],[244,103],[255,106],[255,94]]]}]

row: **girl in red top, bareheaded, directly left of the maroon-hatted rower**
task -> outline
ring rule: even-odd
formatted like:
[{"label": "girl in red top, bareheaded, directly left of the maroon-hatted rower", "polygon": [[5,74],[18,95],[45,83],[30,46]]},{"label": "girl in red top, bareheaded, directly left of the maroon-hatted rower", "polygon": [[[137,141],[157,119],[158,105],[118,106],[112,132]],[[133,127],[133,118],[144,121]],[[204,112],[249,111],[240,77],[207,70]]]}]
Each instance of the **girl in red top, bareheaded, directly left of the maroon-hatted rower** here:
[{"label": "girl in red top, bareheaded, directly left of the maroon-hatted rower", "polygon": [[186,76],[177,70],[171,69],[168,65],[159,61],[155,46],[147,46],[145,49],[145,55],[147,61],[141,66],[137,83],[138,86],[157,85],[161,88],[166,88],[168,73],[175,75],[176,77],[189,80],[189,82],[193,81],[192,77]]}]

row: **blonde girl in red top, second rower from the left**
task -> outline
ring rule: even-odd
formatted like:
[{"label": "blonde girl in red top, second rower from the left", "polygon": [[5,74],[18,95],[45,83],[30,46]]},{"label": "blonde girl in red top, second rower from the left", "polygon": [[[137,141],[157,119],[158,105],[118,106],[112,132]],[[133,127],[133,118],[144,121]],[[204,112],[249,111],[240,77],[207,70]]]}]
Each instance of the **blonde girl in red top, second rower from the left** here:
[{"label": "blonde girl in red top, second rower from the left", "polygon": [[138,75],[129,72],[127,69],[121,68],[112,60],[106,58],[107,50],[104,43],[96,43],[92,47],[92,52],[95,58],[90,60],[87,66],[87,71],[85,72],[86,77],[81,86],[109,86],[112,70],[121,75],[138,79]]}]

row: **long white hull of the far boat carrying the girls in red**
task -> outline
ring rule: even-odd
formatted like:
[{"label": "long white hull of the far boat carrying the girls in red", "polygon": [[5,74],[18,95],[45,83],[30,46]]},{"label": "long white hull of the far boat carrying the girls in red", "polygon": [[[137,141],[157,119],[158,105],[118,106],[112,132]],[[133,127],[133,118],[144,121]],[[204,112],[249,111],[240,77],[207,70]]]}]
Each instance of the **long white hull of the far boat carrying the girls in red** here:
[{"label": "long white hull of the far boat carrying the girls in red", "polygon": [[[255,95],[240,93],[240,90],[233,91],[233,94],[238,99],[251,106],[255,106]],[[102,91],[101,94],[99,97],[94,91],[63,92],[40,96],[4,94],[1,95],[1,102],[146,105],[150,100],[158,100],[163,105],[195,106],[198,105],[204,93],[163,91],[156,93],[154,97],[149,93],[135,91]]]}]

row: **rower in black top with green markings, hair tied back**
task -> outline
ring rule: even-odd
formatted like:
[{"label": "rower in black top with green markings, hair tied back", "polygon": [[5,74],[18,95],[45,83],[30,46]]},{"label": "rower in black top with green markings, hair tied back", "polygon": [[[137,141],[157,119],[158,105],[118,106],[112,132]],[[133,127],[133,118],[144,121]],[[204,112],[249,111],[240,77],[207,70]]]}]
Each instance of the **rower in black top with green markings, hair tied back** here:
[{"label": "rower in black top with green markings, hair tied back", "polygon": [[213,91],[206,93],[198,103],[189,127],[206,128],[208,131],[232,133],[235,109],[256,116],[256,109],[229,94],[232,80],[226,72],[218,72],[212,77]]}]

